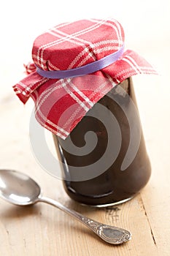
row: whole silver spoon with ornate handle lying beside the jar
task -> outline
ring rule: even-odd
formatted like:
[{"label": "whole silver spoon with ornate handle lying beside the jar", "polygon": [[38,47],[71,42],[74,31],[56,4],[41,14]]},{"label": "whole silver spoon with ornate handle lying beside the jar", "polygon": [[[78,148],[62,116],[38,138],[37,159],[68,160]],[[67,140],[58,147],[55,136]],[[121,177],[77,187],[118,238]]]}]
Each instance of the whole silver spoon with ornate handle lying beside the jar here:
[{"label": "whole silver spoon with ornate handle lying beside the jar", "polygon": [[131,239],[128,230],[96,222],[53,199],[43,197],[39,185],[32,178],[15,170],[0,170],[0,197],[18,206],[28,206],[38,202],[49,203],[78,219],[109,244],[122,244]]}]

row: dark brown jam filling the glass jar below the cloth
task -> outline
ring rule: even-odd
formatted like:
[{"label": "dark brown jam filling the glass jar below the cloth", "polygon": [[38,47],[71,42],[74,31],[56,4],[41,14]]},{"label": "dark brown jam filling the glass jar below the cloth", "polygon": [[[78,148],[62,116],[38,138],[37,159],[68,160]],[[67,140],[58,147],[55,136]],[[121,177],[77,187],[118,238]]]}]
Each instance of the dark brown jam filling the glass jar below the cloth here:
[{"label": "dark brown jam filling the glass jar below the cloth", "polygon": [[[112,95],[116,94],[118,97],[117,99],[120,99],[127,109],[129,108],[129,96],[133,100],[134,105],[136,105],[136,99],[131,78],[126,79],[123,83],[120,83],[119,86],[121,86],[123,91],[119,93],[119,90],[117,90],[118,87],[116,86],[109,91],[109,94],[106,94],[98,101],[98,104],[105,108],[105,119],[107,120],[107,124],[103,124],[100,119],[96,118],[99,111],[98,104],[96,104],[89,110],[90,115],[88,113],[88,115],[84,116],[80,123],[77,124],[77,127],[73,129],[69,138],[62,140],[56,135],[53,135],[58,157],[63,163],[63,177],[66,178],[66,180],[63,180],[64,188],[69,197],[80,203],[91,206],[106,206],[109,204],[121,203],[134,197],[134,195],[147,184],[147,181],[150,178],[150,160],[147,156],[142,130],[139,147],[137,148],[138,150],[136,151],[131,164],[128,165],[125,170],[121,170],[123,159],[128,151],[128,146],[131,140],[131,129],[125,111],[123,111],[123,108],[117,104]],[[128,111],[128,113],[130,113],[131,120],[133,120],[133,110],[130,110],[130,112]],[[88,180],[75,181],[72,179],[71,166],[80,167],[80,169],[81,167],[84,167],[85,171],[85,167],[88,165],[93,166],[93,163],[97,162],[98,159],[101,159],[104,152],[107,150],[109,140],[107,130],[111,130],[113,134],[115,132],[115,128],[112,127],[112,122],[109,118],[110,115],[115,116],[121,133],[121,145],[117,158],[106,170],[104,170],[104,172],[99,173],[98,176]],[[131,125],[136,125],[135,118],[134,123],[132,122]],[[88,131],[95,132],[97,136],[96,147],[93,148],[90,153],[77,155],[77,153],[74,152],[74,147],[72,153],[66,151],[66,147],[71,146],[72,148],[72,143],[78,148],[85,146],[85,134]],[[88,143],[90,142],[88,141]],[[114,140],[111,143],[112,148],[109,150],[107,158],[104,159],[104,163],[101,162],[101,165],[104,164],[107,166],[107,162],[109,162],[109,159],[112,159],[114,151],[117,150],[115,148]],[[92,171],[96,170],[92,169]]]}]

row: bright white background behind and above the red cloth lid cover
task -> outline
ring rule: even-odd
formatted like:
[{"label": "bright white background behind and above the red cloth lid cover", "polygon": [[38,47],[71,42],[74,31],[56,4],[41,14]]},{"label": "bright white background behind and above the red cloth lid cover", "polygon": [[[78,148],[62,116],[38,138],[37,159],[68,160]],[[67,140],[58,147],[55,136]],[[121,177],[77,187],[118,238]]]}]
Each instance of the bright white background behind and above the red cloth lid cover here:
[{"label": "bright white background behind and above the red cloth lid cover", "polygon": [[39,34],[58,23],[82,18],[116,18],[125,30],[126,48],[137,50],[163,73],[160,55],[169,54],[169,3],[169,0],[1,1],[0,75],[7,84],[0,86],[4,89],[20,80],[23,63],[31,60],[32,43]]}]

